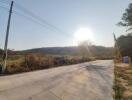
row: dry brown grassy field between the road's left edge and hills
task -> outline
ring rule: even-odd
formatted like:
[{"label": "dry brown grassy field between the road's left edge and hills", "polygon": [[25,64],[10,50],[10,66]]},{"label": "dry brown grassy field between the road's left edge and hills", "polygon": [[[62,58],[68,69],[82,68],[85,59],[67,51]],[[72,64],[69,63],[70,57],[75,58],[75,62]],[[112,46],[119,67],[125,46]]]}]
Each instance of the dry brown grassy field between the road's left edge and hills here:
[{"label": "dry brown grassy field between the road's left edge and hills", "polygon": [[[94,59],[80,56],[43,55],[39,53],[13,55],[8,57],[5,74],[15,74],[33,70],[48,69],[63,65],[87,62],[91,60]],[[0,63],[2,64],[2,60]]]}]

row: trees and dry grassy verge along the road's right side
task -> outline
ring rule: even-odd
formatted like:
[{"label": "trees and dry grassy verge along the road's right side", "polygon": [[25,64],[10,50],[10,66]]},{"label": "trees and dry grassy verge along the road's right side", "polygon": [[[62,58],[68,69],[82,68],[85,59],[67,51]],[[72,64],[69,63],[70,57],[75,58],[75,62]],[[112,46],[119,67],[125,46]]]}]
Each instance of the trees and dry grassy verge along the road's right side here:
[{"label": "trees and dry grassy verge along the road's right side", "polygon": [[[114,68],[114,99],[115,100],[132,100],[132,3],[122,16],[122,21],[118,23],[120,26],[126,27],[126,35],[121,35],[115,39],[115,60]],[[116,49],[118,46],[118,50]],[[123,64],[121,57],[128,56],[129,63]]]}]

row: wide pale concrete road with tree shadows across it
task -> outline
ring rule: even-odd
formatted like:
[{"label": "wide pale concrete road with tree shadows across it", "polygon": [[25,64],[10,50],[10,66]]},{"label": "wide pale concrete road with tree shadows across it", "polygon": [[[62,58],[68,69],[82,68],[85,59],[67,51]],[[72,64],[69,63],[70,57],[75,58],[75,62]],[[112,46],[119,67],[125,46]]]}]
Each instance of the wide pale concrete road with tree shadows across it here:
[{"label": "wide pale concrete road with tree shadows across it", "polygon": [[113,100],[113,61],[0,77],[0,100]]}]

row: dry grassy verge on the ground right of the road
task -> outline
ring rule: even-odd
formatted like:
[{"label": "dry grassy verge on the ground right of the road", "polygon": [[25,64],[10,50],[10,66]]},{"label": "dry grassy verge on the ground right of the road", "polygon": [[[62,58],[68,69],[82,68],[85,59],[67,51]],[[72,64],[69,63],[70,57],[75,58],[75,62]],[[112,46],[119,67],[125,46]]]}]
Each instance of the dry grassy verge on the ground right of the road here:
[{"label": "dry grassy verge on the ground right of the road", "polygon": [[115,100],[132,100],[132,66],[115,64]]}]

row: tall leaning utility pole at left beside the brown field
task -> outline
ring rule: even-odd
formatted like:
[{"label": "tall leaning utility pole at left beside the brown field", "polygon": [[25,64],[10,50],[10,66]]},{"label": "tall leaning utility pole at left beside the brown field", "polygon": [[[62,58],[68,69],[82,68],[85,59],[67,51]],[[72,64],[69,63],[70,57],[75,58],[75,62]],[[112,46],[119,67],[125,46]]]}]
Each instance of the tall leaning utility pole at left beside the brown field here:
[{"label": "tall leaning utility pole at left beside the brown field", "polygon": [[14,1],[11,1],[10,11],[9,11],[9,17],[8,17],[8,23],[7,23],[7,30],[6,30],[6,38],[5,38],[5,46],[4,46],[4,54],[3,54],[4,66],[2,68],[2,73],[4,73],[5,69],[6,69],[7,46],[8,46],[8,37],[9,37],[9,30],[10,30],[10,22],[11,22],[13,3],[14,3]]}]

